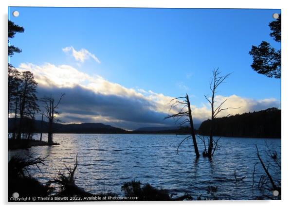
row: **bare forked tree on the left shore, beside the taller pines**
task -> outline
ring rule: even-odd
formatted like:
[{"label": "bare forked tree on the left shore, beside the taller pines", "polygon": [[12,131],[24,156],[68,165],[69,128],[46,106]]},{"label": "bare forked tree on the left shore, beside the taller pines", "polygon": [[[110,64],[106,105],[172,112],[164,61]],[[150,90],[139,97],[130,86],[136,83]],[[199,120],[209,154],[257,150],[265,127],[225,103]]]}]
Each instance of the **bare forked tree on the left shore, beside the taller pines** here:
[{"label": "bare forked tree on the left shore, beside the taller pines", "polygon": [[60,104],[61,99],[64,95],[65,95],[64,93],[61,93],[61,96],[57,104],[55,104],[55,99],[54,97],[52,97],[52,95],[50,95],[50,97],[44,97],[41,99],[41,101],[44,104],[44,108],[46,110],[45,116],[48,119],[48,143],[49,144],[53,143],[53,133],[54,133],[53,124],[59,122],[59,120],[56,119],[56,115],[59,114],[56,111],[56,109],[58,108],[58,105]]}]

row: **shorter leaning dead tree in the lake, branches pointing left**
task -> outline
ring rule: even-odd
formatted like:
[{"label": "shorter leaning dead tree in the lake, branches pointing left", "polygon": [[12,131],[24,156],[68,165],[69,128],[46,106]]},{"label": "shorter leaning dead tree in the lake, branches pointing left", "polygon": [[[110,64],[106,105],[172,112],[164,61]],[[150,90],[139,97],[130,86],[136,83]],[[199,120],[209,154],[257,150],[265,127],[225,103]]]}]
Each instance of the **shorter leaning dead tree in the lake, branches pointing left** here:
[{"label": "shorter leaning dead tree in the lake, branches pointing left", "polygon": [[[180,99],[183,99],[183,100],[180,100]],[[199,149],[198,149],[197,142],[196,142],[195,131],[194,131],[194,127],[193,127],[192,113],[191,113],[188,95],[186,94],[186,96],[184,96],[184,97],[174,98],[170,101],[170,104],[171,104],[170,110],[175,107],[179,107],[180,110],[178,111],[178,113],[168,115],[167,117],[165,117],[165,119],[173,118],[174,120],[176,120],[176,122],[179,122],[180,126],[183,126],[184,124],[189,124],[189,126],[190,126],[190,136],[185,137],[179,143],[179,145],[177,147],[177,153],[178,153],[178,149],[179,149],[180,145],[183,143],[183,141],[185,141],[187,139],[192,139],[196,157],[200,157]]]}]

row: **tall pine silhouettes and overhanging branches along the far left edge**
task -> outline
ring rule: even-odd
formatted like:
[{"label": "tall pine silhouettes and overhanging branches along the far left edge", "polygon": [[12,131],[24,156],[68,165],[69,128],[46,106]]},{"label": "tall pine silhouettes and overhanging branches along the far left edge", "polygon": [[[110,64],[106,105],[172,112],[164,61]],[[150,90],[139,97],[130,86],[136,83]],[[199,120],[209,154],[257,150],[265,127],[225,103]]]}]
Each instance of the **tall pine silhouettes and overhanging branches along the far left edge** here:
[{"label": "tall pine silhouettes and overhanging branches along the far left edge", "polygon": [[[18,47],[10,45],[10,40],[16,33],[23,32],[23,27],[8,20],[8,56],[21,52]],[[19,72],[12,64],[8,63],[8,118],[14,117],[13,139],[24,138],[24,132],[28,132],[26,139],[32,137],[34,123],[25,124],[27,130],[24,130],[24,119],[34,119],[39,111],[36,93],[37,82],[34,74],[30,71]]]}]

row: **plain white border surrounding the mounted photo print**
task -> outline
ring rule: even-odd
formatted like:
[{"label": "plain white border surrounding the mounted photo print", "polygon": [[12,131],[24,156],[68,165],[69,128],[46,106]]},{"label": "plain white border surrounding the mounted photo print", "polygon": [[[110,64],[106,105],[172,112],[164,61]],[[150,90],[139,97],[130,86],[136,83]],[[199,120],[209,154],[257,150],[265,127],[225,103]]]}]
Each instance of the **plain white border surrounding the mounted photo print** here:
[{"label": "plain white border surrounding the mounted photo print", "polygon": [[[1,102],[0,102],[0,130],[1,130],[1,148],[2,156],[1,164],[1,189],[0,199],[1,203],[5,205],[12,205],[13,207],[24,208],[50,208],[62,207],[69,205],[72,208],[79,208],[81,205],[86,207],[112,207],[112,208],[149,208],[153,205],[158,207],[178,208],[224,208],[229,209],[236,207],[239,209],[258,206],[262,208],[283,208],[290,204],[292,198],[292,153],[293,139],[290,137],[292,117],[292,70],[293,66],[290,63],[293,49],[292,39],[292,20],[293,7],[289,0],[1,0]],[[8,6],[47,6],[47,7],[161,7],[161,8],[261,8],[261,9],[282,9],[282,200],[250,200],[250,201],[188,201],[188,202],[76,202],[76,203],[13,203],[7,204],[7,116],[6,116],[6,97],[7,97],[7,7]],[[3,30],[4,28],[4,30]],[[2,46],[3,45],[3,46]],[[292,58],[291,58],[292,59]]]}]

